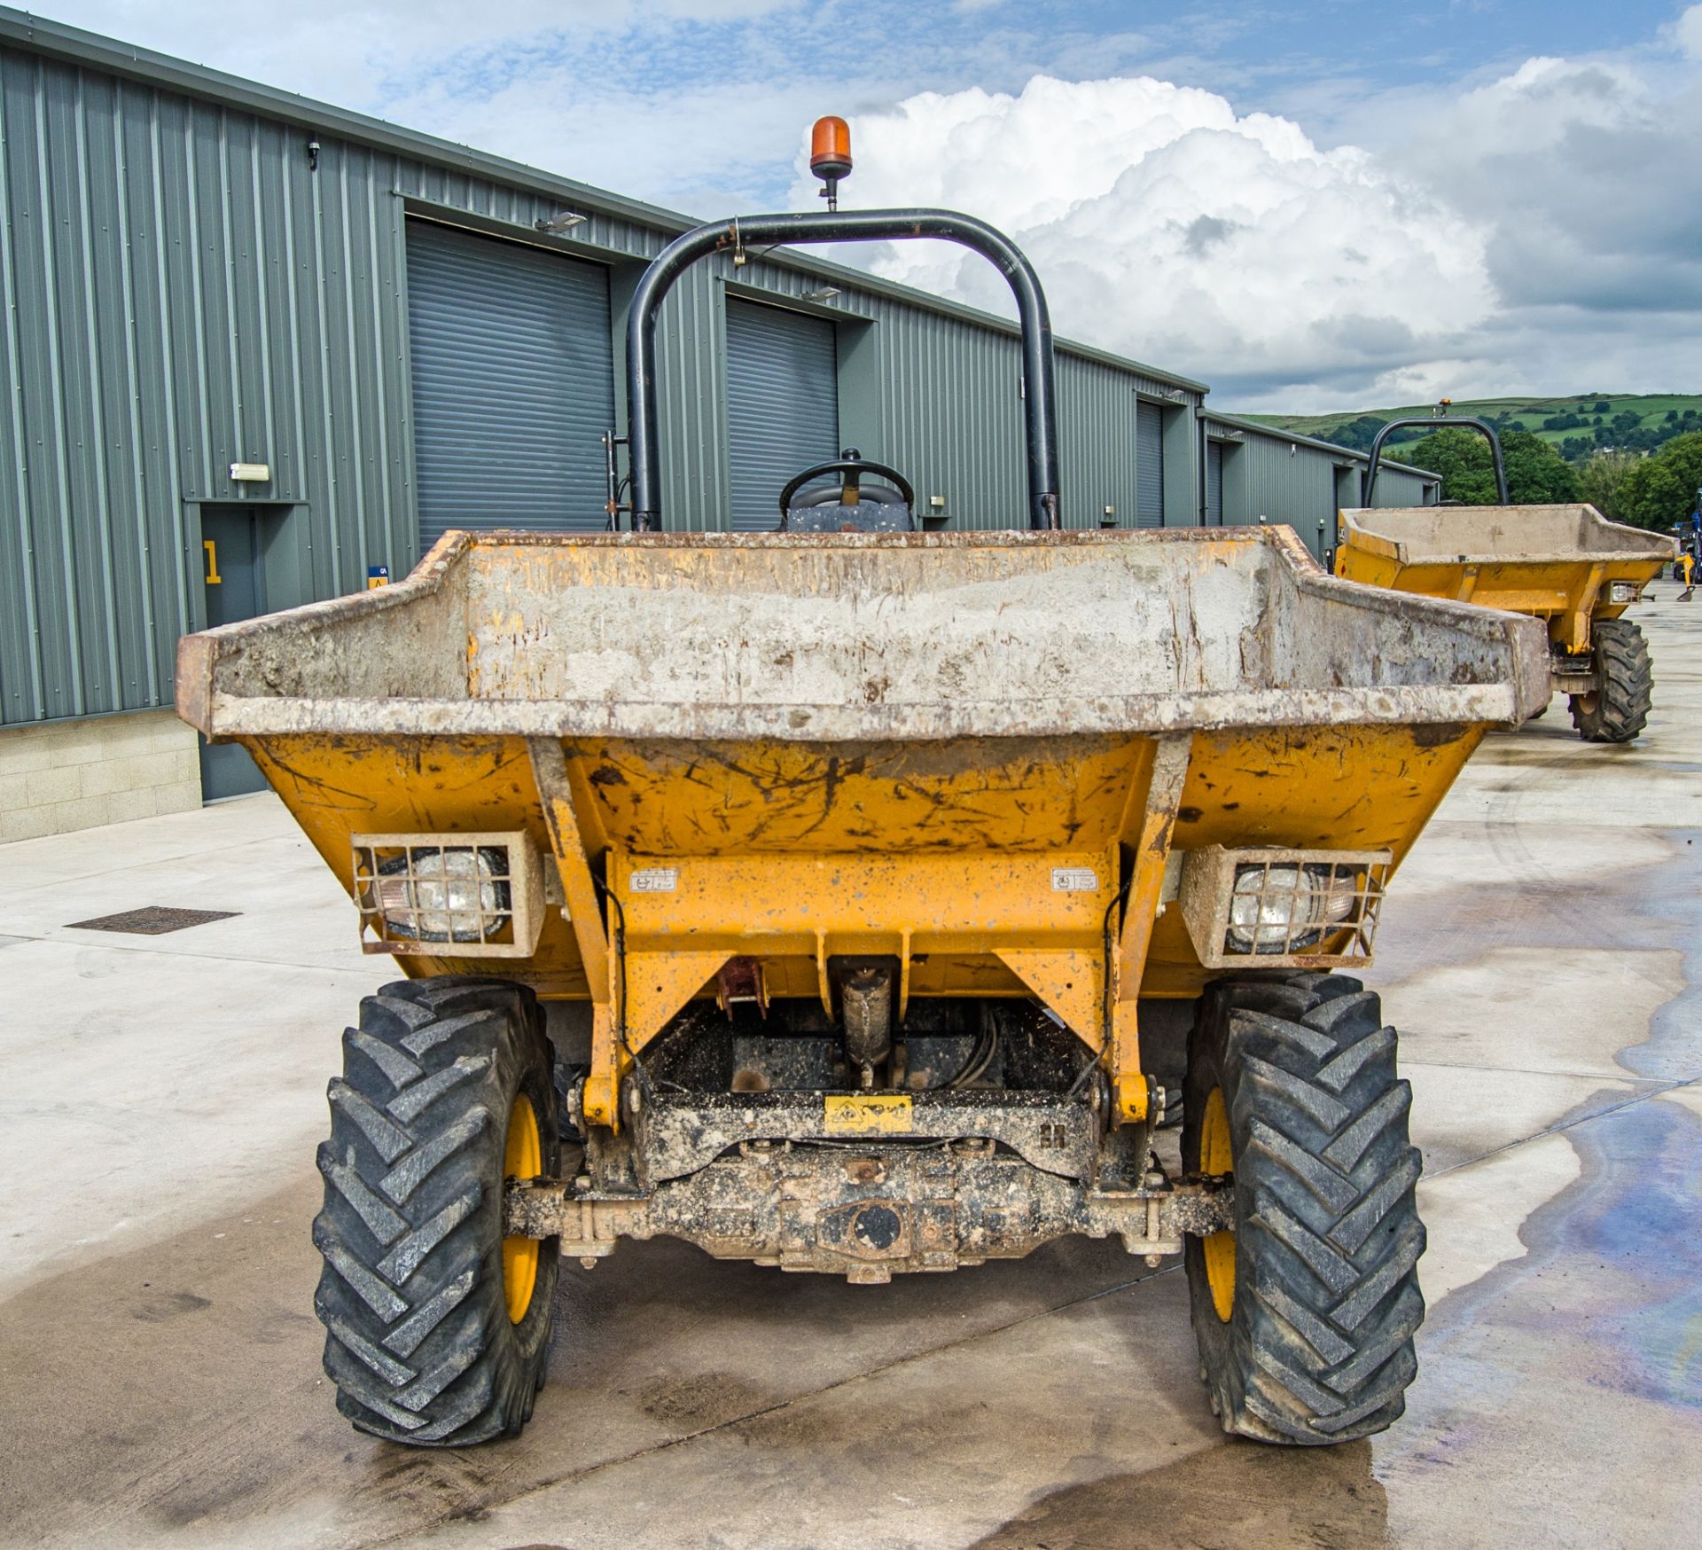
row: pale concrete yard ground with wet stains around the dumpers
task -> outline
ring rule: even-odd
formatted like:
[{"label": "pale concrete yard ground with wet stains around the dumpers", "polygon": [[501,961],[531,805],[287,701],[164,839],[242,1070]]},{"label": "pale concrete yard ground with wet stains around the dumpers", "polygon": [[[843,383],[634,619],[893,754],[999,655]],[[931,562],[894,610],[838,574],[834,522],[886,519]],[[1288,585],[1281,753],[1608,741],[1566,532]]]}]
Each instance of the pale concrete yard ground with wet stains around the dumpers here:
[{"label": "pale concrete yard ground with wet stains around the dumpers", "polygon": [[[1370,1443],[1231,1441],[1183,1276],[1106,1243],[887,1288],[628,1243],[524,1438],[410,1451],[320,1373],[313,1148],[388,961],[271,797],[0,847],[9,1545],[1505,1547],[1702,1521],[1702,601],[1632,748],[1493,736],[1379,964],[1430,1320]],[[237,910],[167,937],[77,930]]]}]

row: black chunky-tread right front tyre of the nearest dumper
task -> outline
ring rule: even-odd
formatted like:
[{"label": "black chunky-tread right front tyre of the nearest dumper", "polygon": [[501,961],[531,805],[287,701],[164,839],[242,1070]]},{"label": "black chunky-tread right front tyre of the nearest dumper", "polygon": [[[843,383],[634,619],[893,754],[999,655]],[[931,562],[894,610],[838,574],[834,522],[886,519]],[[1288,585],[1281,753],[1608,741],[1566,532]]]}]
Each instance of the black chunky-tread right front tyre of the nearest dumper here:
[{"label": "black chunky-tread right front tyre of the nearest dumper", "polygon": [[1224,1431],[1328,1444],[1406,1409],[1425,1318],[1411,1087],[1377,996],[1345,974],[1207,988],[1188,1051],[1183,1168],[1214,1087],[1236,1158],[1236,1295],[1217,1317],[1200,1238],[1186,1266],[1202,1376]]}]

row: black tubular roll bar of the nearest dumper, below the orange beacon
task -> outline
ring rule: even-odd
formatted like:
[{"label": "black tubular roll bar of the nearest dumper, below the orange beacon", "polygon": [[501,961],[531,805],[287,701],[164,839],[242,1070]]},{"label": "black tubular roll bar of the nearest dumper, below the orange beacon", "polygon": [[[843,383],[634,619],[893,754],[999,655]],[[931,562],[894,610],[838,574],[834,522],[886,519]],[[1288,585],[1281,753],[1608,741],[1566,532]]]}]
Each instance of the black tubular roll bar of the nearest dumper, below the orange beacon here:
[{"label": "black tubular roll bar of the nearest dumper, below the orange beacon", "polygon": [[904,242],[938,237],[991,259],[1009,281],[1023,327],[1023,412],[1028,429],[1028,525],[1057,528],[1059,431],[1052,365],[1052,317],[1040,278],[1002,232],[950,210],[854,210],[810,215],[749,215],[711,221],[676,237],[650,261],[626,319],[626,410],[631,422],[633,530],[662,528],[662,445],[657,431],[655,322],[674,281],[698,259],[798,242]]}]

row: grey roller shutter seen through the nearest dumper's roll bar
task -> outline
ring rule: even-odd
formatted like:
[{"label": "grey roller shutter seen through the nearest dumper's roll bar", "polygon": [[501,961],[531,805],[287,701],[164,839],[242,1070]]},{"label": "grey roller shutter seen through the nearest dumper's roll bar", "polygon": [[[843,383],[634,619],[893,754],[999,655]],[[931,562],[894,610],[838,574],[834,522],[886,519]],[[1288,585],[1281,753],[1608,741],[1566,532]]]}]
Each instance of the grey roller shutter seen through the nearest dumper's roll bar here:
[{"label": "grey roller shutter seen through the nearest dumper's roll bar", "polygon": [[727,441],[734,528],[773,531],[793,474],[839,456],[834,325],[727,300]]}]

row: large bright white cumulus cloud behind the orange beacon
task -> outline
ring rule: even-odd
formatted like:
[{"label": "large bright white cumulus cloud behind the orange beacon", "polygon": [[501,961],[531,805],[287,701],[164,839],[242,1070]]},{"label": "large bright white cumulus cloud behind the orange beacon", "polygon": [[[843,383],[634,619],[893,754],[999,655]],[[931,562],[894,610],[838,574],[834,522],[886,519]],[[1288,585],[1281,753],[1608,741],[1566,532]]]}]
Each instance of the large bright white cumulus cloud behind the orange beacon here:
[{"label": "large bright white cumulus cloud behind the orange beacon", "polygon": [[[1214,92],[1038,77],[853,128],[848,204],[979,215],[1035,261],[1060,332],[1208,382],[1411,371],[1494,307],[1482,232],[1419,182]],[[877,267],[1009,310],[955,249],[894,245]]]}]

